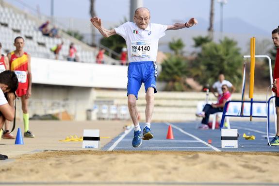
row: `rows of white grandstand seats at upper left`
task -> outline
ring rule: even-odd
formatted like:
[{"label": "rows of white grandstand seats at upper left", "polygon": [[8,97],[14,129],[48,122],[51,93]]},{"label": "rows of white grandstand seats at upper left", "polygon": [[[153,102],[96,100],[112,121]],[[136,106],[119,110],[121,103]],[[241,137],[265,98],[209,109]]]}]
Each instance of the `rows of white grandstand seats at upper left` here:
[{"label": "rows of white grandstand seats at upper left", "polygon": [[[36,17],[28,15],[21,10],[12,7],[5,3],[5,7],[0,5],[0,40],[3,45],[3,52],[8,53],[14,50],[13,39],[21,35],[27,41],[25,51],[32,53],[33,57],[55,59],[55,55],[50,48],[64,42],[64,47],[61,50],[61,60],[66,60],[68,55],[68,46],[74,43],[77,51],[79,52],[80,61],[84,63],[95,63],[96,54],[98,49],[89,47],[79,40],[67,35],[61,31],[61,38],[52,38],[42,35],[38,27],[42,21]],[[106,63],[117,63],[116,60],[106,57]]]}]

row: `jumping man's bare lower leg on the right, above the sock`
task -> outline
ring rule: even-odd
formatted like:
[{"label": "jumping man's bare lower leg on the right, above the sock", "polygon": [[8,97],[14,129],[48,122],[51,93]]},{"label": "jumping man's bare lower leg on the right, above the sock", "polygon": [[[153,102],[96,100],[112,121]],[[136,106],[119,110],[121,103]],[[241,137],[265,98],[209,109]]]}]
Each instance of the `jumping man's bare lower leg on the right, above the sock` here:
[{"label": "jumping man's bare lower leg on the right, above the sock", "polygon": [[145,118],[147,123],[151,123],[154,101],[155,101],[154,88],[149,87],[147,89],[145,99],[146,99]]}]

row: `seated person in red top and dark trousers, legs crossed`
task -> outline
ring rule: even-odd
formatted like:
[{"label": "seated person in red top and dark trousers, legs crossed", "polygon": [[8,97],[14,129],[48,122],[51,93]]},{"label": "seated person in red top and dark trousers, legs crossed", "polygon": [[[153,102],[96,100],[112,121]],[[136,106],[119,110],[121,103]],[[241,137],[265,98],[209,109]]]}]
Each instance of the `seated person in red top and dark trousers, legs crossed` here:
[{"label": "seated person in red top and dark trousers, legs crossed", "polygon": [[202,117],[201,123],[202,126],[199,127],[199,129],[209,129],[208,127],[208,121],[209,116],[211,114],[214,114],[216,112],[223,112],[225,103],[230,100],[230,91],[228,85],[222,85],[222,92],[223,94],[218,99],[217,103],[212,104],[206,104],[203,107],[203,110],[201,113],[196,114],[197,117]]}]

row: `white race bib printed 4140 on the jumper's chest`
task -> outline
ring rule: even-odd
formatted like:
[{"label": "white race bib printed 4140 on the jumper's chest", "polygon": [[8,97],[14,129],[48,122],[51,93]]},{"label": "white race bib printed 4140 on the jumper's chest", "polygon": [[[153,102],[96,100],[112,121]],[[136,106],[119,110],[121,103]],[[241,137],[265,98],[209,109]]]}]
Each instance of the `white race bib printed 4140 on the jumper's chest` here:
[{"label": "white race bib printed 4140 on the jumper's chest", "polygon": [[131,54],[133,57],[150,57],[151,43],[148,41],[132,41]]}]

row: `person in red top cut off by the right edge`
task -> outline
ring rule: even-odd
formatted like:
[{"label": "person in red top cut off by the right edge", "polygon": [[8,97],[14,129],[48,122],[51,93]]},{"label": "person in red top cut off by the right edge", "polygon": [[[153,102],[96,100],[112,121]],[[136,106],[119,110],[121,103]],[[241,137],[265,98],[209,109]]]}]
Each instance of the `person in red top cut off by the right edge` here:
[{"label": "person in red top cut off by the right edge", "polygon": [[271,34],[273,44],[277,48],[272,86],[272,91],[276,93],[275,106],[277,115],[277,131],[274,138],[270,141],[270,145],[279,146],[279,27],[274,29]]}]

